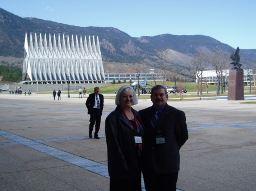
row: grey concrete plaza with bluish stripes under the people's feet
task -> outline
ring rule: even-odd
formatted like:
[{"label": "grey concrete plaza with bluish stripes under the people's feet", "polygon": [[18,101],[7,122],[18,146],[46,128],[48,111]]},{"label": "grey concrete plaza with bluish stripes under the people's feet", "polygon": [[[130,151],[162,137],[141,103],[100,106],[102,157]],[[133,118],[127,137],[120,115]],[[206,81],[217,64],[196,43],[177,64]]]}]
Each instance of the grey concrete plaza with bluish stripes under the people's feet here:
[{"label": "grey concrete plaza with bluish stripes under the people's feet", "polygon": [[[89,139],[85,98],[0,94],[0,190],[109,190],[104,126],[115,105],[108,96],[101,139]],[[186,113],[189,129],[177,189],[255,190],[256,105],[246,101],[168,101]],[[149,106],[139,100],[134,109]]]}]

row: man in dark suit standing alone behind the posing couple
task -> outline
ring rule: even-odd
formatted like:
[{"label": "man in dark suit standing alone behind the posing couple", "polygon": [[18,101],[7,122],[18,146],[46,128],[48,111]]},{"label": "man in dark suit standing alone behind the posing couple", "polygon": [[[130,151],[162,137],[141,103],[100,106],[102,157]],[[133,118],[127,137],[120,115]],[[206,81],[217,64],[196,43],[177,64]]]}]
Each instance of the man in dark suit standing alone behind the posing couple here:
[{"label": "man in dark suit standing alone behind the posing couple", "polygon": [[95,124],[94,138],[100,139],[100,137],[98,137],[98,131],[100,130],[101,125],[104,96],[100,94],[99,87],[94,87],[94,93],[89,94],[85,105],[88,109],[88,114],[90,114],[89,138],[92,138],[93,126]]}]

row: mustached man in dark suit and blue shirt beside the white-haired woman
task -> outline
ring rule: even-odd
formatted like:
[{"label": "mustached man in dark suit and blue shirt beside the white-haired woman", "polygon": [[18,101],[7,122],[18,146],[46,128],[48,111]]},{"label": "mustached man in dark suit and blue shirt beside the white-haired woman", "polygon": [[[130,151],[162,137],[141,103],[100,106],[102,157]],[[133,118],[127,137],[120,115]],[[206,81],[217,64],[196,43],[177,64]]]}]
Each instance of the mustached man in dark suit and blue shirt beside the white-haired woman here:
[{"label": "mustached man in dark suit and blue shirt beside the white-haired woman", "polygon": [[167,104],[163,86],[154,86],[150,97],[152,107],[139,111],[144,124],[144,184],[146,191],[175,191],[179,150],[188,139],[185,113]]}]

